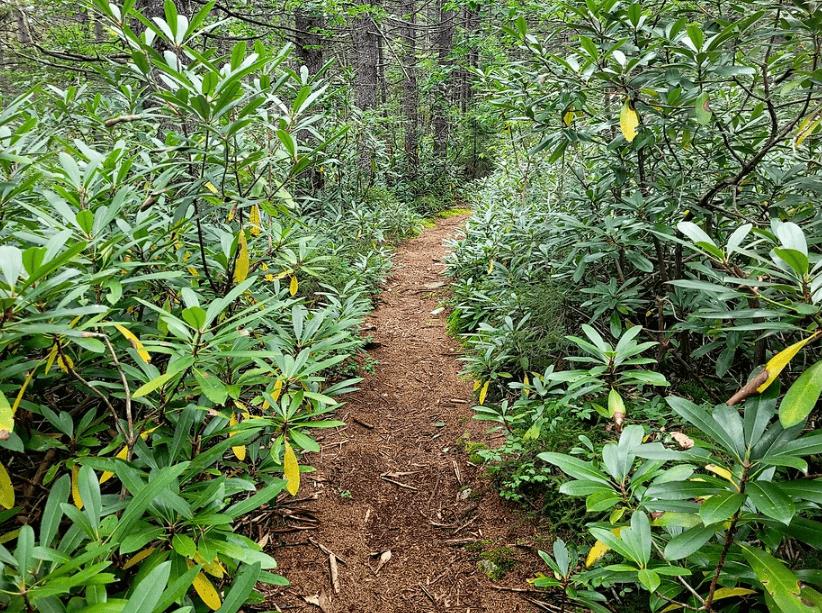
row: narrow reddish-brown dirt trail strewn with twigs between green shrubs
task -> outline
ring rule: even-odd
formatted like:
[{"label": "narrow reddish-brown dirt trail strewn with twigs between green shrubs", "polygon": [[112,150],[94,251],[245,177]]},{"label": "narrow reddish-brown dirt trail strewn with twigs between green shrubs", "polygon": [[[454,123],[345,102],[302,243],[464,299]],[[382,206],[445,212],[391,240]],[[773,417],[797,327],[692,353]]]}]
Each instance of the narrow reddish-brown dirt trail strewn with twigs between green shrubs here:
[{"label": "narrow reddish-brown dirt trail strewn with twigs between green shrubs", "polygon": [[[300,497],[316,499],[291,508],[315,517],[317,528],[285,532],[274,547],[292,582],[271,595],[283,610],[536,610],[522,594],[495,589],[478,568],[487,564],[482,551],[504,558],[514,568],[497,582],[521,587],[536,556],[520,547],[531,542],[530,521],[502,504],[458,441],[466,432],[482,440],[485,428],[471,420],[471,385],[458,377],[459,346],[445,315],[431,312],[447,291],[443,242],[463,222],[439,220],[396,254],[366,325],[376,372],[340,410],[347,427],[309,456],[317,472],[304,475]],[[320,545],[340,558],[339,593]]]}]

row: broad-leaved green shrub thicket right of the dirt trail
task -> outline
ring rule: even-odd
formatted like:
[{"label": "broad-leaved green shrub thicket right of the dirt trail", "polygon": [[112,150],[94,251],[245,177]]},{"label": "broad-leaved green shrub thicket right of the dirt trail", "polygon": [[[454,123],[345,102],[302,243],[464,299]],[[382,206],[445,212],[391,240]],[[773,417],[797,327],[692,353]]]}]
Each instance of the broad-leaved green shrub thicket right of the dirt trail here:
[{"label": "broad-leaved green shrub thicket right of the dirt trail", "polygon": [[[822,606],[822,112],[810,3],[558,3],[480,72],[449,260],[472,445],[595,611]],[[490,111],[489,111],[490,112]]]}]

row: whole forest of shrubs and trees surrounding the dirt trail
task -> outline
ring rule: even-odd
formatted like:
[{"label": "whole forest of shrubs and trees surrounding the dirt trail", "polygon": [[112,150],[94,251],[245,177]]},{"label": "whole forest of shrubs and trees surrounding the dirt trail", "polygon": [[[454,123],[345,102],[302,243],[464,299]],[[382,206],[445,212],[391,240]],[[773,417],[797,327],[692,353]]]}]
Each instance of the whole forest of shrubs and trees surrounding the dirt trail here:
[{"label": "whole forest of shrubs and trees surrounding the dirt trail", "polygon": [[283,583],[249,518],[340,424],[391,244],[458,197],[449,323],[504,433],[469,450],[549,520],[534,586],[819,610],[821,22],[0,8],[0,603],[236,611]]}]

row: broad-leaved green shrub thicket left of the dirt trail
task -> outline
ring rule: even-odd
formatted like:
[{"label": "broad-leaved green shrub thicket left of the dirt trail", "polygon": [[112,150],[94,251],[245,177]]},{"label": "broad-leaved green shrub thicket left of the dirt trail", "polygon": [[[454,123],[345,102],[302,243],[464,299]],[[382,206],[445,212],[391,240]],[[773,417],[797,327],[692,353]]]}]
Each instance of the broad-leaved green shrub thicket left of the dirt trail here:
[{"label": "broad-leaved green shrub thicket left of the dirt trail", "polygon": [[83,82],[4,73],[30,87],[0,111],[3,610],[231,612],[287,585],[252,520],[344,425],[392,247],[451,203],[425,159],[436,199],[363,167],[343,83],[179,8],[89,5],[116,60]]}]

